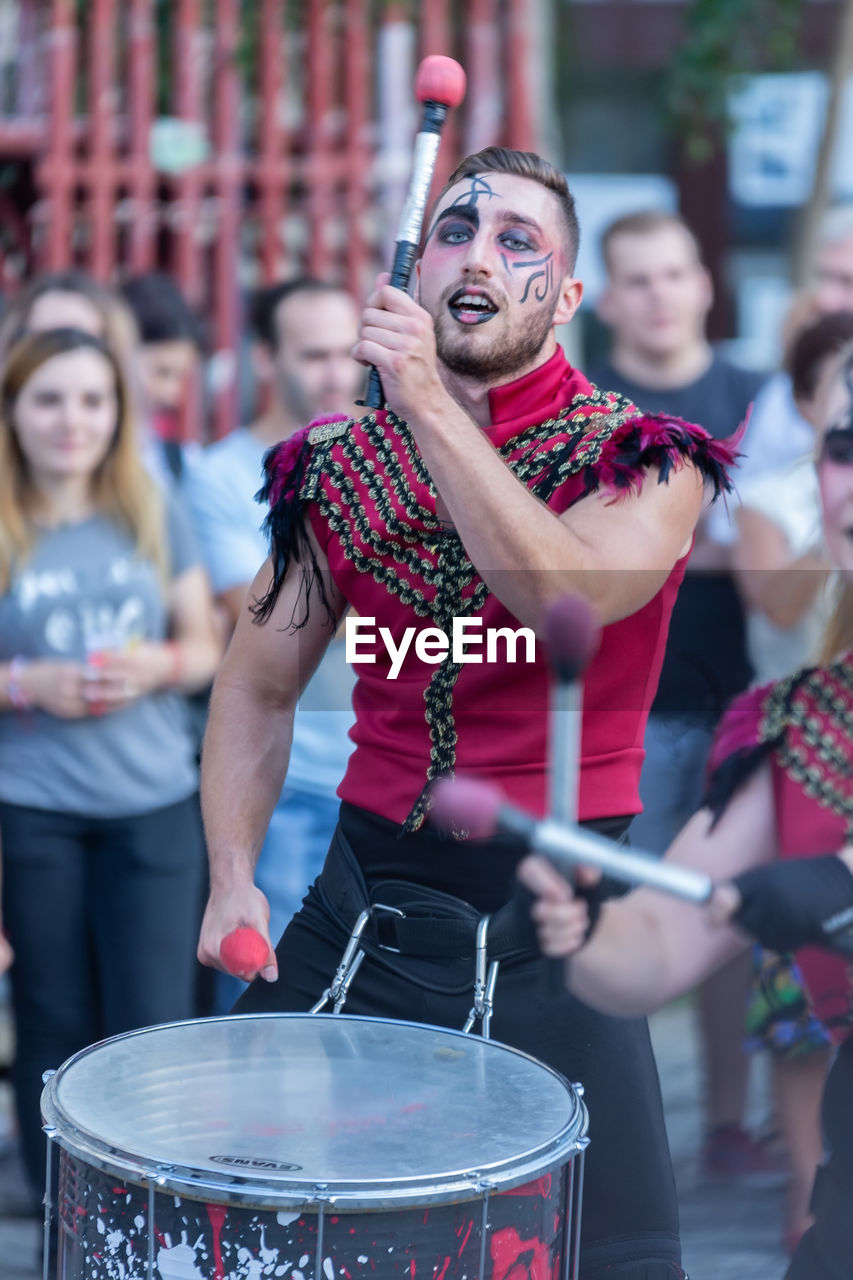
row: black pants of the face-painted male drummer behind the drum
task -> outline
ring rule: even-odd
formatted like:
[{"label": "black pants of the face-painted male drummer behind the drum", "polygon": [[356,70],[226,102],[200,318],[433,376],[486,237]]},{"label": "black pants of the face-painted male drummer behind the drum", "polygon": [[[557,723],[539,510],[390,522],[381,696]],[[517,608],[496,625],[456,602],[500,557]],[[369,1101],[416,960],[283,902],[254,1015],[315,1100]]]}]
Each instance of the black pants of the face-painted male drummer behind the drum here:
[{"label": "black pants of the face-painted male drummer behind the drum", "polygon": [[[446,905],[451,915],[467,910],[476,919],[460,900],[405,882],[384,881],[368,891],[338,828],[323,874],[277,947],[278,982],[256,980],[234,1012],[306,1011],[329,986],[347,934],[369,899],[400,905],[406,893],[419,902],[430,901],[437,916]],[[493,924],[497,928],[497,916]],[[377,941],[368,941],[365,950],[347,1012],[462,1027],[473,1002],[473,960],[400,956],[380,950]],[[683,1271],[675,1184],[646,1021],[606,1018],[565,988],[555,988],[547,963],[533,946],[517,946],[517,938],[503,954],[491,950],[489,956],[501,959],[493,1038],[524,1050],[585,1089],[590,1147],[583,1280],[676,1280]]]}]

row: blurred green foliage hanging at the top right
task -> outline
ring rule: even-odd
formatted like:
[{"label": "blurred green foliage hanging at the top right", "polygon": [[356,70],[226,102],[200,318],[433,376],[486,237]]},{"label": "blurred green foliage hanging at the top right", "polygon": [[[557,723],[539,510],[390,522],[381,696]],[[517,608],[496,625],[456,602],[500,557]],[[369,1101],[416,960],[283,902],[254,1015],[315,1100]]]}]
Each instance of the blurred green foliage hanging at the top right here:
[{"label": "blurred green foliage hanging at the top right", "polygon": [[706,161],[729,127],[731,79],[794,64],[806,0],[693,0],[685,38],[665,82],[670,127],[688,157]]}]

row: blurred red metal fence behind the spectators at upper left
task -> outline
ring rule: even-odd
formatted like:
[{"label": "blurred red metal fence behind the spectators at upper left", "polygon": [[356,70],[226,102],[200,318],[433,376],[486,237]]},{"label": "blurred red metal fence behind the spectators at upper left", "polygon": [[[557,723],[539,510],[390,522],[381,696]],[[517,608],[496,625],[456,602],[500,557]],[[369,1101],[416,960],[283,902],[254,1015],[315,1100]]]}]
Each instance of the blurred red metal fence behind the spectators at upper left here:
[{"label": "blurred red metal fence behind the spectators at upper left", "polygon": [[[214,434],[240,293],[298,270],[361,294],[389,252],[414,69],[469,73],[441,168],[535,145],[524,0],[18,0],[3,9],[0,283],[174,273],[209,317]],[[437,174],[441,179],[442,173]]]}]

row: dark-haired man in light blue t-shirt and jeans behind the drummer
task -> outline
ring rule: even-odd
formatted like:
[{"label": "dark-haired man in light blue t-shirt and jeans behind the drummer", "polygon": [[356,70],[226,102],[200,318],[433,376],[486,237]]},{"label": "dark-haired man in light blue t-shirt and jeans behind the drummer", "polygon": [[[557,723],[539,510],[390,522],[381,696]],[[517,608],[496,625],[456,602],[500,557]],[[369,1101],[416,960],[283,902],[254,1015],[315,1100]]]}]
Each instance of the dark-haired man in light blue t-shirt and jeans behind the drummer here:
[{"label": "dark-haired man in light blue t-shirt and jeans behind the drummer", "polygon": [[[255,502],[268,448],[313,419],[352,413],[364,372],[350,355],[359,314],[346,291],[302,278],[259,289],[251,303],[255,374],[268,388],[268,407],[250,426],[207,448],[187,468],[184,493],[216,599],[232,630],[246,593],[266,557]],[[333,644],[318,668],[293,723],[284,790],[257,861],[257,884],[270,904],[270,932],[279,937],[319,873],[337,822],[336,787],[352,749],[352,671],[343,644]],[[242,984],[218,975],[216,1002],[228,1009]]]}]

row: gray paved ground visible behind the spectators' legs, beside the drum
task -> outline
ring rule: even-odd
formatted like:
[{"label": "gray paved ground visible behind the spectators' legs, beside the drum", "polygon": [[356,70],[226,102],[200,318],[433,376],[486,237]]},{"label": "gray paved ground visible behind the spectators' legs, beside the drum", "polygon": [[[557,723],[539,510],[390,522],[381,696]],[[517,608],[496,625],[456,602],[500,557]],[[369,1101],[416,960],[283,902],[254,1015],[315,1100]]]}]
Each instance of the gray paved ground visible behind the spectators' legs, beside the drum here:
[{"label": "gray paved ground visible behind the spectators' legs, beside the drum", "polygon": [[[781,1193],[711,1185],[698,1175],[699,1080],[689,1004],[679,1002],[657,1014],[652,1034],[681,1197],[684,1261],[690,1280],[781,1280],[785,1271],[785,1257],[779,1248]],[[763,1119],[761,1082],[753,1092],[756,1119]],[[594,1142],[594,1117],[592,1124]],[[0,1098],[0,1143],[4,1133],[8,1133],[5,1092]],[[38,1225],[14,1216],[15,1206],[19,1208],[22,1203],[20,1188],[20,1169],[6,1152],[0,1156],[0,1280],[41,1277],[41,1266],[36,1267]]]}]

